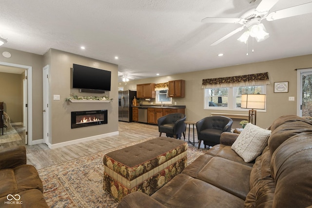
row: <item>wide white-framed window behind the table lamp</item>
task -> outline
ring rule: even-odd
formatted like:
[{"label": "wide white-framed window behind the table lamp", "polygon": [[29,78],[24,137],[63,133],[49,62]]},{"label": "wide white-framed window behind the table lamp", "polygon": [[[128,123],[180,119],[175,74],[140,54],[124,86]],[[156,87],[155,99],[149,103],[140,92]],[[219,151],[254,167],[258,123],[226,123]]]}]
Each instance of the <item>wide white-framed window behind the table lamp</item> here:
[{"label": "wide white-framed window behind the table lamp", "polygon": [[204,93],[204,109],[244,111],[240,108],[242,94],[266,94],[266,85],[207,88]]}]

